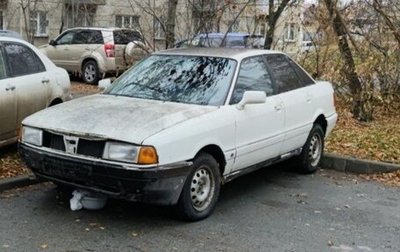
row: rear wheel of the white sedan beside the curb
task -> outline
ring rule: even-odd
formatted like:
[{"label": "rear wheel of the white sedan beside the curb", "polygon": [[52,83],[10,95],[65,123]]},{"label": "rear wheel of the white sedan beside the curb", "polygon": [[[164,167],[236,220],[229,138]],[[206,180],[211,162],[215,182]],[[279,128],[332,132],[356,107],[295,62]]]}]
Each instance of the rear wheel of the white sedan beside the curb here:
[{"label": "rear wheel of the white sedan beside the curb", "polygon": [[324,130],[321,125],[314,124],[300,156],[295,158],[297,171],[310,174],[318,170],[322,155],[324,154],[324,136]]}]

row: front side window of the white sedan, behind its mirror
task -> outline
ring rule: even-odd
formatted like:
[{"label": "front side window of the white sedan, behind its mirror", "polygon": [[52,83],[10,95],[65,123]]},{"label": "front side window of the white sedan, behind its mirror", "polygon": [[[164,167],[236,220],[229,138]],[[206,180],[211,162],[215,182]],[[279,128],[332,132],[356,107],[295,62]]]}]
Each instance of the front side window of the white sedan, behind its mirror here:
[{"label": "front side window of the white sedan, behind its mirror", "polygon": [[242,60],[230,104],[238,103],[245,91],[264,91],[267,96],[273,94],[271,76],[262,56]]}]

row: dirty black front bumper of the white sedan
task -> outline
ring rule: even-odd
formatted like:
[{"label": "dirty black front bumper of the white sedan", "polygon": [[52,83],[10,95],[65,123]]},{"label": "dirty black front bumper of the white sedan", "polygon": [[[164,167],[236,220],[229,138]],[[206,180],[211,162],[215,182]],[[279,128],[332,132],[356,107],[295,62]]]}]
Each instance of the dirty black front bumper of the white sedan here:
[{"label": "dirty black front bumper of the white sedan", "polygon": [[19,152],[36,176],[100,192],[113,198],[157,205],[178,202],[191,162],[156,168],[127,169],[100,159],[71,157],[19,144]]}]

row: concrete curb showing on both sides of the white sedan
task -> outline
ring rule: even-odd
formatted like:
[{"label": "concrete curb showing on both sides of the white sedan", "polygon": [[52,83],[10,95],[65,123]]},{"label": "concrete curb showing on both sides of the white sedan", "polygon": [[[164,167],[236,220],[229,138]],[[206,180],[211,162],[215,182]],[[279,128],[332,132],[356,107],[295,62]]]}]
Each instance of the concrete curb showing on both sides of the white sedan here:
[{"label": "concrete curb showing on both sides of the white sedan", "polygon": [[[383,173],[400,170],[400,165],[361,160],[329,153],[325,154],[322,158],[321,167],[324,169],[357,174]],[[21,175],[14,178],[0,179],[0,192],[41,182],[44,182],[44,180],[38,179],[33,175]]]}]

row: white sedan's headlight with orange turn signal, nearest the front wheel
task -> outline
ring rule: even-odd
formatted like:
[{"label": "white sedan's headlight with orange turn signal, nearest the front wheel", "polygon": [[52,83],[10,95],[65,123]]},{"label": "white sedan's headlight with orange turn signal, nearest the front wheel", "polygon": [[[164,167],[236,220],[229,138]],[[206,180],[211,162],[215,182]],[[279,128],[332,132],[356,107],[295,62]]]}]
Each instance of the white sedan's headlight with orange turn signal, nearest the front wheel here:
[{"label": "white sedan's headlight with orange turn signal, nearest the front wheel", "polygon": [[137,164],[158,163],[157,152],[152,146],[136,146],[127,143],[107,142],[103,153],[104,159]]}]

